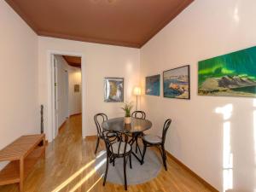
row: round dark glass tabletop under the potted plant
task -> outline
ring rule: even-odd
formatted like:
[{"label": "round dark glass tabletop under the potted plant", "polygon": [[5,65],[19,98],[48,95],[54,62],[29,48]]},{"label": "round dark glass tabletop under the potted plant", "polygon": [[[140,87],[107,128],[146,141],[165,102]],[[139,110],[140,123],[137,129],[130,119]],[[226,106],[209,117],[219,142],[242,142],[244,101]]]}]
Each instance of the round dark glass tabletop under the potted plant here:
[{"label": "round dark glass tabletop under the potted plant", "polygon": [[102,123],[102,129],[108,131],[140,133],[149,130],[152,123],[148,119],[131,118],[131,124],[125,124],[125,118],[108,119]]}]

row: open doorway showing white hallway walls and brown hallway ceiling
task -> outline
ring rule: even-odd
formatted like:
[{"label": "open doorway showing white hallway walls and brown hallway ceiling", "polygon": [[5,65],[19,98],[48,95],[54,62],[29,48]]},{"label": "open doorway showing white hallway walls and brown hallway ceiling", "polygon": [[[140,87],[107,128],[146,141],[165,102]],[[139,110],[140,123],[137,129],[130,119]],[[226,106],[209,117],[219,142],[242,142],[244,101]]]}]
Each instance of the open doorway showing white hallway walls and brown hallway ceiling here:
[{"label": "open doorway showing white hallway walls and brown hallway ceiling", "polygon": [[66,121],[82,113],[81,57],[52,55],[53,69],[53,139],[57,137]]}]

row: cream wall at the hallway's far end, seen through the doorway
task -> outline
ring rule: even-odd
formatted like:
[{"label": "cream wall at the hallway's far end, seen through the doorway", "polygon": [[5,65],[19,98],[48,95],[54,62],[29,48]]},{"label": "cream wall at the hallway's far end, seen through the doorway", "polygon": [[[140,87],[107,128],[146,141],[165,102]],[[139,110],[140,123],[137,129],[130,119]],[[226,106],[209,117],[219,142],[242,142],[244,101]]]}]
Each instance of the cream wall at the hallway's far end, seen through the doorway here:
[{"label": "cream wall at the hallway's far end, seen through the doorway", "polygon": [[[69,96],[68,96],[68,111],[69,115],[82,113],[82,72],[78,67],[69,67]],[[74,85],[79,84],[79,92],[74,91]]]}]

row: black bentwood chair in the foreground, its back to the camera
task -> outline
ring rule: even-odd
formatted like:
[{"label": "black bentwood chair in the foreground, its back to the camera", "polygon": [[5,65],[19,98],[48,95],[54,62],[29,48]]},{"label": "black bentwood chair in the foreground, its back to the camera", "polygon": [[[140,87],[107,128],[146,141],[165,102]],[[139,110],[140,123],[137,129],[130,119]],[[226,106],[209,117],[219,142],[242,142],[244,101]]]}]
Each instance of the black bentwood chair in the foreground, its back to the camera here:
[{"label": "black bentwood chair in the foreground, its back to the camera", "polygon": [[115,140],[112,137],[113,132],[104,131],[104,141],[107,150],[107,164],[106,164],[106,171],[103,181],[103,186],[105,186],[107,176],[108,176],[108,164],[113,162],[116,158],[123,158],[124,160],[124,177],[125,177],[125,190],[127,190],[127,179],[126,179],[126,164],[127,161],[130,161],[130,168],[131,167],[131,145],[128,143],[128,135],[126,133],[118,133],[119,139]]}]

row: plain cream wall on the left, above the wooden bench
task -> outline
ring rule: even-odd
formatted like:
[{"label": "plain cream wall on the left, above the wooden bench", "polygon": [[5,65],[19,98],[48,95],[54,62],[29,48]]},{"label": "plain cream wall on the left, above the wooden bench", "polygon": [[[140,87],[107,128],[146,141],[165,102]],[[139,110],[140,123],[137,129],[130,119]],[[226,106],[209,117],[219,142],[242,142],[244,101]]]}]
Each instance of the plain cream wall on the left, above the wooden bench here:
[{"label": "plain cream wall on the left, above the wooden bench", "polygon": [[[0,1],[0,149],[40,131],[38,36]],[[0,168],[3,164],[0,164]]]}]

